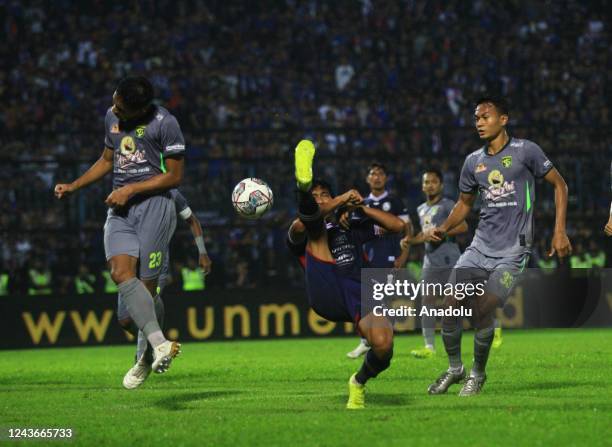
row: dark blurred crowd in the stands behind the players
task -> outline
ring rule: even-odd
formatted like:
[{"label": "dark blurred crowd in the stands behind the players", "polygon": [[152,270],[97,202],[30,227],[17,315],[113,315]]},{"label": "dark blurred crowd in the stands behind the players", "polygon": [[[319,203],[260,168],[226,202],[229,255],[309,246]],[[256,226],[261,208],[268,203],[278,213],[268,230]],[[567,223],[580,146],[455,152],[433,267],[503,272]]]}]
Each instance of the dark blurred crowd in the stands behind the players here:
[{"label": "dark blurred crowd in the stands behind the players", "polygon": [[[182,126],[181,190],[214,263],[206,287],[302,282],[284,247],[301,138],[316,141],[316,173],[336,191],[367,194],[376,160],[412,213],[427,166],[442,169],[456,198],[463,160],[481,145],[473,101],[485,93],[508,98],[510,132],[537,142],[565,177],[572,265],[595,266],[596,256],[600,265],[602,253],[605,264],[606,14],[603,0],[0,0],[0,294],[108,290],[110,178],[67,201],[52,191],[100,156],[104,115],[126,74],[149,77]],[[258,222],[231,209],[234,185],[250,176],[275,194]],[[551,237],[551,189],[538,186],[533,265]],[[181,223],[171,258],[180,287],[197,260]]]}]

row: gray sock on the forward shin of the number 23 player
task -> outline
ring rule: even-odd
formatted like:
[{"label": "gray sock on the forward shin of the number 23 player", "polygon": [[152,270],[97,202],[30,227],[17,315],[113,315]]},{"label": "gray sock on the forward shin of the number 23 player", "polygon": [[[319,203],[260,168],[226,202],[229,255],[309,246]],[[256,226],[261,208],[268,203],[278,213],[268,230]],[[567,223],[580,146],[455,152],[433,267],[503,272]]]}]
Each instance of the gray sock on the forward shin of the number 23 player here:
[{"label": "gray sock on the forward shin of the number 23 player", "polygon": [[127,304],[130,317],[144,332],[147,340],[157,347],[166,341],[155,315],[153,297],[138,278],[132,278],[117,286]]}]

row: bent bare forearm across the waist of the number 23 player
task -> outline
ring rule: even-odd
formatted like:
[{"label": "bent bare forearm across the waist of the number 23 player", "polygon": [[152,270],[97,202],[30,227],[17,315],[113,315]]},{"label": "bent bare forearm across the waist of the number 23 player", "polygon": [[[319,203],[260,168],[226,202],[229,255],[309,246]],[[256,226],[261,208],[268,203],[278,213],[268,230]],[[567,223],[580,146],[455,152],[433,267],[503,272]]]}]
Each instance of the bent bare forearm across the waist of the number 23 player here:
[{"label": "bent bare forearm across the waist of the number 23 player", "polygon": [[165,164],[166,172],[142,182],[129,183],[121,188],[115,189],[106,198],[106,204],[110,207],[123,206],[130,197],[136,194],[166,191],[178,187],[183,180],[183,157],[167,158]]}]

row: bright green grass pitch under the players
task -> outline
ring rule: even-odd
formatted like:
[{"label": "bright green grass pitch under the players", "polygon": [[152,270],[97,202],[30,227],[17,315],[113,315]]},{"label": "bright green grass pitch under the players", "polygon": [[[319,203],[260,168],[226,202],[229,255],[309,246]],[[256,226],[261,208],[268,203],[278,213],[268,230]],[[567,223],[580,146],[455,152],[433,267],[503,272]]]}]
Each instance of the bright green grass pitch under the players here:
[{"label": "bright green grass pitch under the players", "polygon": [[409,357],[420,337],[400,336],[361,412],[344,409],[356,338],[185,344],[135,391],[121,388],[131,347],[4,351],[0,426],[73,427],[80,445],[610,445],[611,339],[506,331],[483,394],[459,398],[426,393],[446,367],[439,337],[428,361]]}]

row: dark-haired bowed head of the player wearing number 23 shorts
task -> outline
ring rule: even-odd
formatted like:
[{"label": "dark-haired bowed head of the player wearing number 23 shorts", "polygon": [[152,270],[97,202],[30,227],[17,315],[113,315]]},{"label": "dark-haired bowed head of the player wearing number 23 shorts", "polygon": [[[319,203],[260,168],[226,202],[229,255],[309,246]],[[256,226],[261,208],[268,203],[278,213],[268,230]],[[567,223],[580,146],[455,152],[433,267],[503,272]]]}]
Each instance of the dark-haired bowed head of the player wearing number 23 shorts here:
[{"label": "dark-haired bowed head of the player wearing number 23 shorts", "polygon": [[155,97],[153,84],[144,76],[128,76],[119,81],[113,94],[113,113],[121,121],[145,115]]}]

